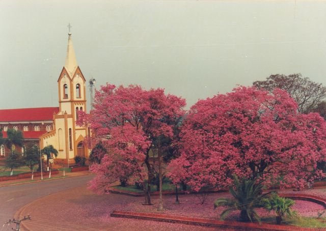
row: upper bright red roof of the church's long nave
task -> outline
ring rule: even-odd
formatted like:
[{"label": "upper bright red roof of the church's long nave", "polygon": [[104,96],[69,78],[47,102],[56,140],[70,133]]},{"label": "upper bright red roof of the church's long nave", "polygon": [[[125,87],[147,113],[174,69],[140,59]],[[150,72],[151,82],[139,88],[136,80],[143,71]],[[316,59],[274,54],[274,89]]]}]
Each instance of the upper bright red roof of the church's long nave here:
[{"label": "upper bright red roof of the church's long nave", "polygon": [[52,120],[59,107],[36,107],[0,110],[0,122]]}]

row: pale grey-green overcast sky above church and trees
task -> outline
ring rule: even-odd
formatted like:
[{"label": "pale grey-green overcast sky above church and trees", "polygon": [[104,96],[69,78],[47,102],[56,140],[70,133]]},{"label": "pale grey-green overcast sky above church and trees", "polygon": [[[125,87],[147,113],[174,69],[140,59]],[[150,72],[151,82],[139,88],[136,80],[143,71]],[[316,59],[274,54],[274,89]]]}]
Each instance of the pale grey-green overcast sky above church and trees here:
[{"label": "pale grey-green overcast sky above church and trees", "polygon": [[165,88],[188,108],[270,74],[326,85],[325,12],[302,1],[0,0],[0,108],[59,105],[69,22],[97,88]]}]

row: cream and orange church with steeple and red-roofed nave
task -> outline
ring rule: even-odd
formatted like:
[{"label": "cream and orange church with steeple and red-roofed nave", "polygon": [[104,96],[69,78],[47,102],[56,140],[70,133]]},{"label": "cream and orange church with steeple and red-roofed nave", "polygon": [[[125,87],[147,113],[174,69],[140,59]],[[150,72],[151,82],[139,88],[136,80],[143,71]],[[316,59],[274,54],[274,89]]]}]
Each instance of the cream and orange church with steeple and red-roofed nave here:
[{"label": "cream and orange church with steeple and red-roofed nave", "polygon": [[[55,162],[73,163],[75,156],[88,157],[90,147],[85,140],[89,130],[76,125],[78,111],[86,111],[86,79],[77,65],[70,32],[65,65],[58,78],[58,95],[59,107],[0,109],[0,128],[4,138],[8,129],[21,130],[23,146],[28,142],[41,149],[52,145],[58,150]],[[24,150],[13,148],[18,153]],[[0,158],[9,153],[7,147],[0,147]]]}]

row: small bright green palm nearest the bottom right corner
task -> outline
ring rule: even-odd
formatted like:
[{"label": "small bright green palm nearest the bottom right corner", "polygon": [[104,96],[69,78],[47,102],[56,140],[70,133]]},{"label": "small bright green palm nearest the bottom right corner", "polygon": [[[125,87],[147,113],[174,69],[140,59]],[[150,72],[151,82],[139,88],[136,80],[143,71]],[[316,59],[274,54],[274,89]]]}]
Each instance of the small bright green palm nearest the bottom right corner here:
[{"label": "small bright green palm nearest the bottom right corner", "polygon": [[297,213],[295,211],[291,210],[291,206],[294,205],[294,200],[280,197],[276,193],[273,193],[273,195],[270,198],[264,198],[263,200],[264,207],[266,209],[274,210],[276,214],[276,223],[281,224],[282,217],[284,215],[287,215],[289,217],[296,217]]}]

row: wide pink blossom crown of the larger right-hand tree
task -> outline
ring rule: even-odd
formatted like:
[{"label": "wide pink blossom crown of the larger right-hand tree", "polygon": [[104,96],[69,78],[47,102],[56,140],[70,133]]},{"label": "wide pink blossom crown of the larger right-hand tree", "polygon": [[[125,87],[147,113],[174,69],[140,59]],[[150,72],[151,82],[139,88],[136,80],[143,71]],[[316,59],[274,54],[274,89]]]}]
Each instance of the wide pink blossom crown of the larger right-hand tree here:
[{"label": "wide pink blossom crown of the larger right-hand tree", "polygon": [[191,107],[169,176],[195,191],[228,187],[234,174],[304,188],[323,177],[316,164],[325,159],[325,136],[319,114],[299,113],[286,92],[239,87]]}]

